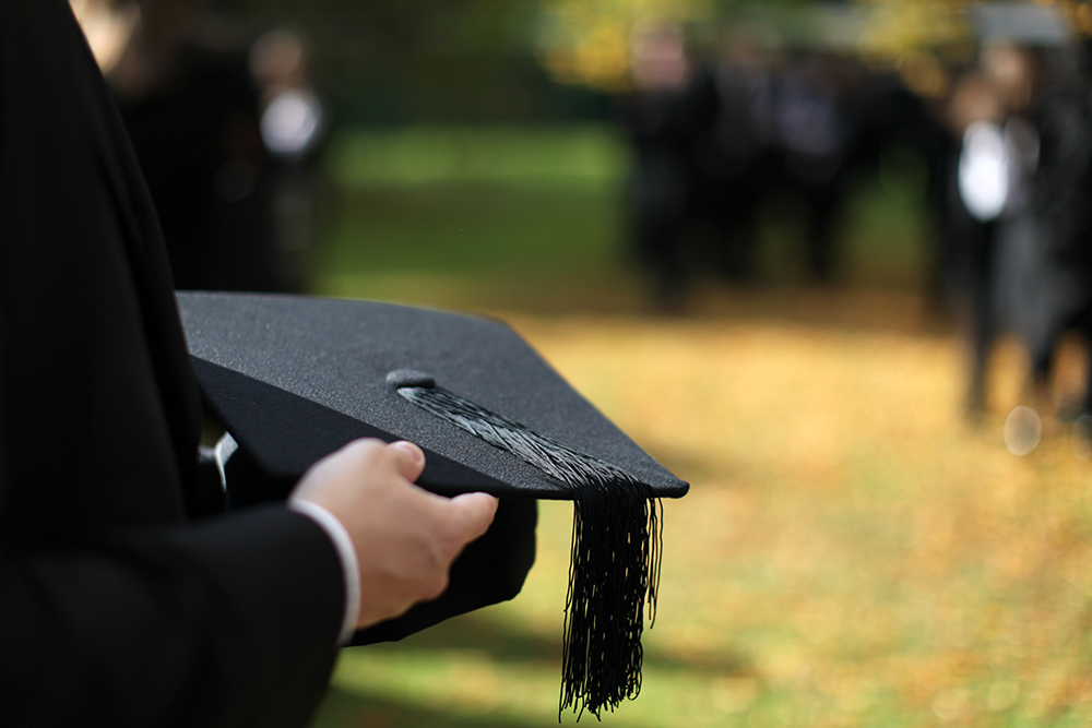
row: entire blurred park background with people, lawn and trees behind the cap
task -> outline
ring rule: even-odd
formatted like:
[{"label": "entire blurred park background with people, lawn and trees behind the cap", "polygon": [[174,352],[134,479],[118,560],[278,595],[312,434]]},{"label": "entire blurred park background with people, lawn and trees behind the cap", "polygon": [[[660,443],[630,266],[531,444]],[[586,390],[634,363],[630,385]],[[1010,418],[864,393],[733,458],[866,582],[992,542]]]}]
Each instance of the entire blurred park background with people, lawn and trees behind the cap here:
[{"label": "entire blurred park background with people, lawn and trees behind the cap", "polygon": [[[499,317],[692,484],[605,723],[1092,723],[1088,2],[72,4],[179,287]],[[316,725],[556,725],[539,513]]]}]

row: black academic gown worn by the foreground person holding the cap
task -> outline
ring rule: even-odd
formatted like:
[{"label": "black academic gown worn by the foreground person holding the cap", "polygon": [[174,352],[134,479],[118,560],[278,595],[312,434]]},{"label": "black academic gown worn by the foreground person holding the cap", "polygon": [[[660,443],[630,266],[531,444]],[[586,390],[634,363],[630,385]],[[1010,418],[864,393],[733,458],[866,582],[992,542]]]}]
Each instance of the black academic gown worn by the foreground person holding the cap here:
[{"label": "black academic gown worn by the foreground person holding the cap", "polygon": [[311,715],[336,552],[282,505],[192,523],[199,418],[155,216],[68,3],[0,0],[0,725]]}]

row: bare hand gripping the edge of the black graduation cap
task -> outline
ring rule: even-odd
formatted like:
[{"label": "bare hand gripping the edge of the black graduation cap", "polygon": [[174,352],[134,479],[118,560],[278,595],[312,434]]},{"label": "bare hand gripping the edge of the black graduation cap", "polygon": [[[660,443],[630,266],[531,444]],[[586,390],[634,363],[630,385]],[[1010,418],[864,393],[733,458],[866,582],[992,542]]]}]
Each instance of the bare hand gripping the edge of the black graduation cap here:
[{"label": "bare hand gripping the edge of the black graduation cap", "polygon": [[451,562],[492,523],[496,498],[435,496],[413,482],[424,469],[425,453],[413,443],[356,440],[316,463],[290,496],[330,511],[352,537],[357,628],[440,596]]}]

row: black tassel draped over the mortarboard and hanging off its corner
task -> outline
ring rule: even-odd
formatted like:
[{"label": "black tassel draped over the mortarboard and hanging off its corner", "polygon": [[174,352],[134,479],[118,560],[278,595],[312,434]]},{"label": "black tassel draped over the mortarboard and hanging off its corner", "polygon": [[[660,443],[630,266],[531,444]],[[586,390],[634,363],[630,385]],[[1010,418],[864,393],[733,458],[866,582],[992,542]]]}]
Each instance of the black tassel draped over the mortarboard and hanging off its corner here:
[{"label": "black tassel draped over the mortarboard and hanging off its corner", "polygon": [[[402,372],[399,372],[402,373]],[[412,373],[412,372],[406,372]],[[397,392],[572,490],[572,556],[566,598],[560,713],[596,718],[641,691],[644,605],[655,621],[663,506],[619,467],[577,452],[468,399],[419,380]]]}]

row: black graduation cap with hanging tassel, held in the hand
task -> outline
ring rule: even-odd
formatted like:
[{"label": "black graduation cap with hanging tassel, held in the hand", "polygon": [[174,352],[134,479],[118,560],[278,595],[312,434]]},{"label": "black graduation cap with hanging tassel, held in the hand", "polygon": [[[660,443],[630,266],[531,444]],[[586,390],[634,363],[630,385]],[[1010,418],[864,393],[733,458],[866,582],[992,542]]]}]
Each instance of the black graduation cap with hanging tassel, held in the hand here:
[{"label": "black graduation cap with hanging tassel, held in the hand", "polygon": [[637,695],[645,605],[655,616],[658,499],[689,486],[514,331],[366,301],[193,293],[178,303],[207,405],[280,484],[275,496],[373,437],[418,444],[418,485],[439,494],[573,501],[561,708],[598,716]]}]

